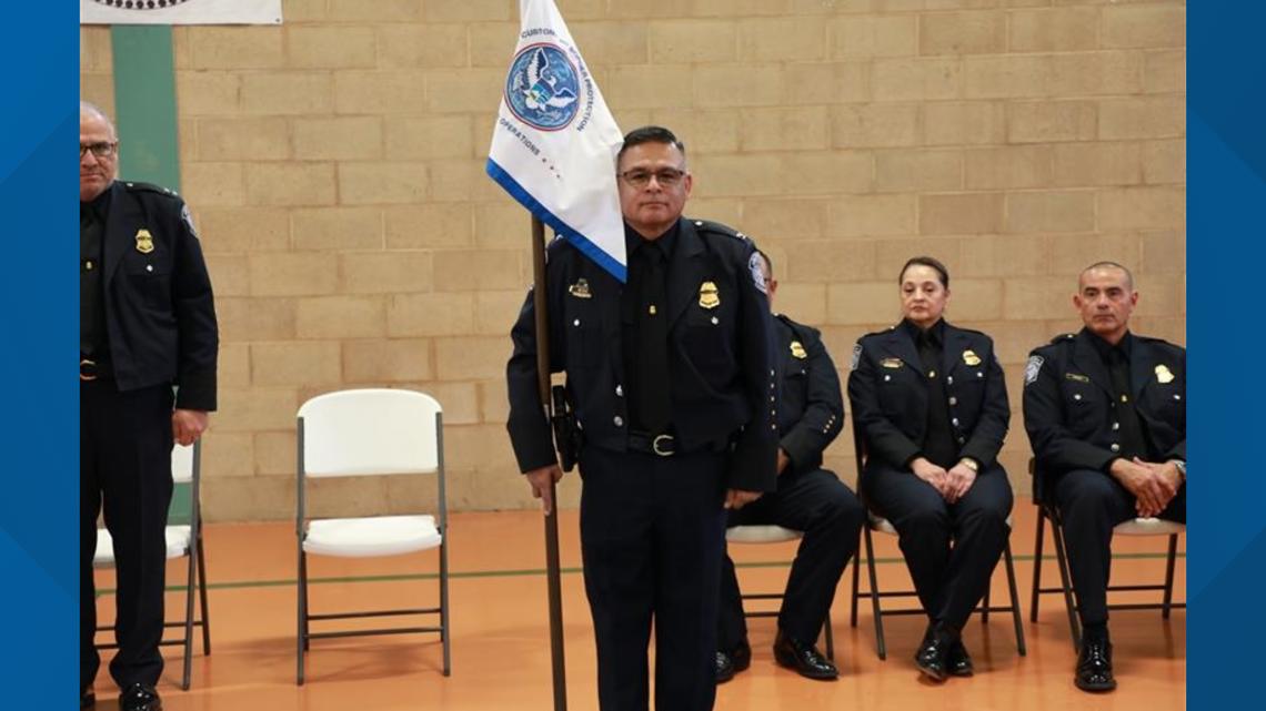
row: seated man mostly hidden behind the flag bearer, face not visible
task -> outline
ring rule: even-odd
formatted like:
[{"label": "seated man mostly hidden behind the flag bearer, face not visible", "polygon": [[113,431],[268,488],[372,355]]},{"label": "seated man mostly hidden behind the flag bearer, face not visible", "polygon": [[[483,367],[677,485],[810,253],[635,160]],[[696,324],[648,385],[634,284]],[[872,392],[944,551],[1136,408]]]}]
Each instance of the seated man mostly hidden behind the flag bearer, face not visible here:
[{"label": "seated man mostly hidden behind the flag bearer, face not visible", "polygon": [[[768,256],[757,253],[762,257],[761,275],[772,307],[779,282]],[[776,314],[772,344],[780,381],[779,486],[751,506],[730,511],[729,525],[774,524],[804,531],[782,595],[774,658],[810,679],[836,679],[839,672],[818,652],[814,640],[830,610],[844,566],[857,550],[866,517],[857,495],[833,472],[822,468],[823,450],[844,424],[844,399],[839,373],[817,329]],[[717,681],[727,682],[752,659],[742,593],[728,554],[722,563],[717,639]]]}]

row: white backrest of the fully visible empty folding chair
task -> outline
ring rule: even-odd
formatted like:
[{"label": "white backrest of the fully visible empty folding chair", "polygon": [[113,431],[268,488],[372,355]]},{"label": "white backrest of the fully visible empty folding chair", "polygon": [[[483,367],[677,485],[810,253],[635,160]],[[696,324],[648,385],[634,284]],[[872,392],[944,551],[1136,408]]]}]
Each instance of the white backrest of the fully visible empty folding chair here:
[{"label": "white backrest of the fully visible empty folding chair", "polygon": [[442,407],[411,390],[342,390],[299,409],[303,474],[352,477],[439,469]]}]

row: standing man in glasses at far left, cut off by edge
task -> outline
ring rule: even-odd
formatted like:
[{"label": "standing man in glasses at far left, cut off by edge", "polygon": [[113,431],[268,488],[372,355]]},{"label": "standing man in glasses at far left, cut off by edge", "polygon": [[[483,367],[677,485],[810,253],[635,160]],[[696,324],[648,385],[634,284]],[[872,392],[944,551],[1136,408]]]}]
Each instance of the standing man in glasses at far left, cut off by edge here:
[{"label": "standing man in glasses at far left, cut off by edge", "polygon": [[[110,676],[119,708],[158,711],[173,442],[192,444],[215,410],[211,282],[185,201],[119,182],[119,139],[80,104],[80,688],[96,698],[96,517],[118,573]],[[173,392],[175,391],[175,392]]]}]

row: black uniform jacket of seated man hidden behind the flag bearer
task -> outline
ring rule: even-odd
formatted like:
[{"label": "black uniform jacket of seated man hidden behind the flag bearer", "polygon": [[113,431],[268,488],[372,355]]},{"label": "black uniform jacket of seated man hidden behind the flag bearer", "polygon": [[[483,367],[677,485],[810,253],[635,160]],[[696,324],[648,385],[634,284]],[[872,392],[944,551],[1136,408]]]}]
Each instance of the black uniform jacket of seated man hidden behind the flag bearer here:
[{"label": "black uniform jacket of seated man hidden behind the flag bearer", "polygon": [[774,318],[779,368],[779,447],[787,453],[790,473],[822,467],[822,453],[844,426],[839,373],[822,344],[818,329],[779,314]]}]

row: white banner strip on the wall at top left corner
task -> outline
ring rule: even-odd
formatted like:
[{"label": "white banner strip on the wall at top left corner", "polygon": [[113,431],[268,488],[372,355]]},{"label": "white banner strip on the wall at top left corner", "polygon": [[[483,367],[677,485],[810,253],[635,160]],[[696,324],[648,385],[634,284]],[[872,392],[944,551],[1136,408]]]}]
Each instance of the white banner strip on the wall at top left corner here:
[{"label": "white banner strip on the wall at top left corner", "polygon": [[281,0],[80,0],[82,25],[276,25]]}]

